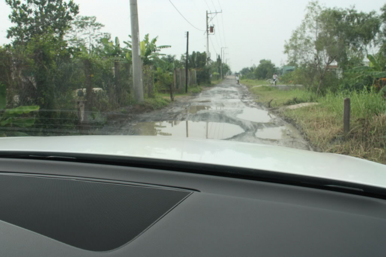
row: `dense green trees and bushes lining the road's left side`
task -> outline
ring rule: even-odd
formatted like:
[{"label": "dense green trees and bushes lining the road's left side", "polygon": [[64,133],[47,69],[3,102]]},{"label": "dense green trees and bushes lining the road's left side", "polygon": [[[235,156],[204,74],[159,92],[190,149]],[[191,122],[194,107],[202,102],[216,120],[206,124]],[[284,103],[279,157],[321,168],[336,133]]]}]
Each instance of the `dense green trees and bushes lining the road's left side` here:
[{"label": "dense green trees and bushes lining the road's left side", "polygon": [[[72,0],[5,2],[12,9],[12,26],[7,30],[12,43],[0,46],[0,84],[6,87],[7,109],[38,106],[35,122],[30,123],[34,135],[63,127],[76,131],[81,122],[102,125],[99,121],[106,120],[100,118],[102,113],[138,105],[130,35],[124,41],[112,39],[95,16],[78,15],[79,5]],[[180,59],[166,56],[161,51],[171,46],[157,45],[157,39],[146,34],[140,42],[145,102],[139,105],[150,109],[169,102],[165,93],[173,100],[176,71],[186,65],[185,54]],[[195,82],[190,83],[189,92],[198,93],[203,85],[210,85],[211,75],[218,77],[221,67],[224,74],[230,72],[216,58],[207,60],[205,52],[189,54],[188,69],[197,75],[190,78]],[[91,114],[83,121],[78,115],[80,102]]]}]

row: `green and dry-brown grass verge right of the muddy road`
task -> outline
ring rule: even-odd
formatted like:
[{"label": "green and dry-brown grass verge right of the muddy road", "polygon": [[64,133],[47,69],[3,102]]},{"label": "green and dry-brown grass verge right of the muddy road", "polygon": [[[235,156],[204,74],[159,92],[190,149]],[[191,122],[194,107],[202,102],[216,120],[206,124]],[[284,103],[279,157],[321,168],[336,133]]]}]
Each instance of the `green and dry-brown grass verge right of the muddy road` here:
[{"label": "green and dry-brown grass verge right of the muddy road", "polygon": [[[250,87],[250,86],[249,86]],[[257,102],[282,107],[318,102],[280,111],[298,124],[311,144],[321,152],[344,154],[386,164],[386,101],[378,93],[341,92],[317,96],[305,89],[251,88]],[[351,99],[351,131],[343,134],[343,100]]]}]

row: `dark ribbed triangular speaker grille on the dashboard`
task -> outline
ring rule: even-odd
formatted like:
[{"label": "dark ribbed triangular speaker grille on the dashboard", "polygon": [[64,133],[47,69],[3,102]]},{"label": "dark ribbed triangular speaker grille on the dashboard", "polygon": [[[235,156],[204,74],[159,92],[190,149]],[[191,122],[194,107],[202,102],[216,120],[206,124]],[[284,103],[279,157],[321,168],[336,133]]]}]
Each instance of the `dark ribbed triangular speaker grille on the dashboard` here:
[{"label": "dark ribbed triangular speaker grille on the dashboard", "polygon": [[0,220],[90,251],[133,240],[191,192],[0,175]]}]

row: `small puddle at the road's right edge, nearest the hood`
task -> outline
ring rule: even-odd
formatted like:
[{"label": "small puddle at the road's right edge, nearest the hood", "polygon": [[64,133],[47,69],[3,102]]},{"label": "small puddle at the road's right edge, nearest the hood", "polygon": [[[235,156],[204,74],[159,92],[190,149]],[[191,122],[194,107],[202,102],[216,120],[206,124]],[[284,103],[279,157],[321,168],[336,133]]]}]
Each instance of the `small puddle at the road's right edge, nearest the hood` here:
[{"label": "small puddle at the road's right edge, nearest the hood", "polygon": [[290,124],[280,127],[265,127],[262,130],[257,130],[256,137],[262,139],[290,139],[301,138],[300,133]]}]

